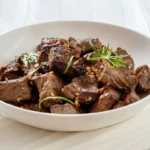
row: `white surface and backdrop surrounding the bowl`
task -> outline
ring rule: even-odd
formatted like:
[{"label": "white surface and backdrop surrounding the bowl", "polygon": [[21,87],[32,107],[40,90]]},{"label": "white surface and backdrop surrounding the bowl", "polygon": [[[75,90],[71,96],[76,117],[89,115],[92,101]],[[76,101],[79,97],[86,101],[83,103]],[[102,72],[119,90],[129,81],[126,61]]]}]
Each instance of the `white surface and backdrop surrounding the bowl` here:
[{"label": "white surface and backdrop surrounding the bowl", "polygon": [[[58,20],[112,23],[149,36],[150,0],[0,0],[0,33]],[[121,124],[74,133],[36,129],[0,115],[0,150],[9,149],[148,150],[150,108]]]}]

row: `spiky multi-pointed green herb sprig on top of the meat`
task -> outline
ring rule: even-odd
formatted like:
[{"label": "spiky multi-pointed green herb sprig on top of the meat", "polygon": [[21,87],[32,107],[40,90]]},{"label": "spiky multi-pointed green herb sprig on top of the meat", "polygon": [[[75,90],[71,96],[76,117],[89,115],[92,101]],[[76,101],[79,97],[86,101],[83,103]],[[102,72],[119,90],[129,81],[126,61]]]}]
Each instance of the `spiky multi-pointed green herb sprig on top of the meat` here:
[{"label": "spiky multi-pointed green herb sprig on top of the meat", "polygon": [[124,63],[122,60],[122,58],[128,57],[129,55],[111,56],[111,54],[113,53],[113,50],[109,48],[109,44],[104,46],[101,51],[99,49],[97,49],[93,45],[92,42],[89,42],[89,44],[90,44],[91,48],[93,49],[93,51],[98,55],[98,57],[90,58],[90,55],[88,55],[87,60],[99,61],[101,59],[105,59],[108,62],[110,62],[113,67],[121,67],[121,66],[127,67],[127,66],[129,66],[129,64]]}]

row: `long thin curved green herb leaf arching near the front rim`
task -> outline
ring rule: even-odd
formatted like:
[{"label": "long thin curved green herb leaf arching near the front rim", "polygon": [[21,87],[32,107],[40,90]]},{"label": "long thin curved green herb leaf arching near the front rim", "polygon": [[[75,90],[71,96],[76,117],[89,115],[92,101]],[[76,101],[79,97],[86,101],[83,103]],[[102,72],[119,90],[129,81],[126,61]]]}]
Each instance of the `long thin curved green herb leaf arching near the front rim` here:
[{"label": "long thin curved green herb leaf arching near the front rim", "polygon": [[69,100],[69,99],[67,99],[65,97],[61,97],[61,96],[49,96],[49,97],[46,97],[46,98],[40,100],[40,102],[39,102],[39,109],[41,109],[41,105],[42,105],[43,102],[45,102],[47,100],[53,100],[53,99],[60,99],[60,100],[66,101],[66,102],[74,105],[74,102],[72,102],[71,100]]}]

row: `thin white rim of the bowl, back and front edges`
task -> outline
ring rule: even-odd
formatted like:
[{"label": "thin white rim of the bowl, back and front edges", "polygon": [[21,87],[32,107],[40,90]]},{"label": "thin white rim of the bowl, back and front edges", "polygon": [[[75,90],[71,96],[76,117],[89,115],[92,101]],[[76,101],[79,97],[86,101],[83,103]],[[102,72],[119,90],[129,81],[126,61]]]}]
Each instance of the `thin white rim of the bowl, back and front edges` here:
[{"label": "thin white rim of the bowl, back and front edges", "polygon": [[[19,27],[19,28],[10,30],[8,32],[2,33],[2,34],[0,34],[0,38],[2,38],[4,35],[7,36],[7,34],[9,34],[11,32],[15,32],[17,30],[23,30],[25,28],[33,28],[34,26],[41,26],[41,25],[46,25],[46,24],[59,24],[59,23],[66,23],[66,24],[69,24],[69,23],[87,24],[88,23],[88,24],[99,24],[99,25],[103,25],[103,26],[111,26],[113,28],[119,28],[121,30],[126,30],[128,32],[132,32],[134,34],[137,34],[138,36],[142,36],[142,37],[150,40],[150,36],[148,36],[148,35],[146,35],[144,33],[137,32],[135,30],[123,27],[123,26],[119,26],[119,25],[115,25],[115,24],[111,24],[111,23],[104,23],[104,22],[78,21],[78,20],[75,20],[75,21],[63,20],[63,21],[50,21],[50,22],[35,23],[35,24]],[[123,111],[123,110],[126,110],[127,108],[130,108],[130,107],[132,108],[135,105],[138,105],[138,104],[142,103],[144,100],[146,100],[148,98],[150,98],[150,95],[140,99],[139,101],[137,101],[135,103],[132,103],[132,104],[124,106],[124,107],[120,107],[120,108],[112,109],[112,110],[107,110],[107,111],[103,111],[103,112],[95,112],[95,113],[92,112],[92,113],[84,113],[84,114],[54,114],[54,113],[38,112],[38,111],[33,111],[33,110],[28,110],[28,109],[23,109],[23,108],[20,108],[20,107],[17,107],[17,106],[13,106],[11,104],[3,102],[2,100],[0,100],[0,105],[5,105],[6,107],[9,107],[11,109],[15,109],[16,111],[22,111],[22,112],[31,113],[31,114],[34,114],[34,115],[42,115],[42,116],[44,115],[44,116],[51,116],[51,117],[88,117],[88,116],[97,116],[97,115],[105,115],[105,114],[109,114],[109,113],[115,113],[115,112],[117,112],[119,110]],[[3,112],[0,112],[0,113],[3,114]]]}]

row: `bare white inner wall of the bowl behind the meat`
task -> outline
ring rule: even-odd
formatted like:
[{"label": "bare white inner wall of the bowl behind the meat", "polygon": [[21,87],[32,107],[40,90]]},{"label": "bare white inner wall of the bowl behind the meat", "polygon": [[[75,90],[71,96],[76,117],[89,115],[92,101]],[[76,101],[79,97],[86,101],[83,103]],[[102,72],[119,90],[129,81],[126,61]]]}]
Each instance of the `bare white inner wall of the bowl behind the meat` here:
[{"label": "bare white inner wall of the bowl behind the meat", "polygon": [[35,51],[43,37],[69,36],[76,38],[98,37],[104,43],[110,43],[126,49],[133,57],[135,65],[150,64],[150,42],[146,36],[121,27],[91,22],[52,22],[32,25],[6,33],[0,37],[0,65],[7,64],[23,52]]}]

